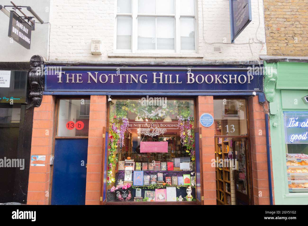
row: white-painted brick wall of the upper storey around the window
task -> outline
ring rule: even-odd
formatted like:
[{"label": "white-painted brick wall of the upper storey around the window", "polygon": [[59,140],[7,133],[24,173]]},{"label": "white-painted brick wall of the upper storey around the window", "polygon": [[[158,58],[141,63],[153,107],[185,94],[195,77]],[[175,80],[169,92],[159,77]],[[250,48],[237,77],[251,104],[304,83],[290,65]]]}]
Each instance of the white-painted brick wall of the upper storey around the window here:
[{"label": "white-painted brick wall of the upper storey around the window", "polygon": [[[180,0],[176,0],[180,1]],[[259,9],[258,9],[259,1]],[[266,54],[263,1],[252,0],[252,22],[230,43],[230,18],[228,0],[197,0],[198,2],[198,53],[204,60],[256,60]],[[143,54],[144,57],[117,57],[114,53],[116,0],[51,0],[51,35],[49,60],[195,60],[197,54]],[[203,18],[202,18],[203,4]],[[260,15],[260,23],[259,17]],[[203,24],[204,21],[204,24]],[[260,26],[259,26],[260,25]],[[259,26],[259,29],[257,30]],[[204,29],[204,31],[202,31]],[[256,38],[257,35],[257,38]],[[91,54],[91,38],[102,39],[102,55]],[[252,53],[249,48],[250,44]],[[209,44],[221,42],[217,44]],[[213,46],[222,46],[222,53],[213,52]],[[109,54],[109,57],[108,57]],[[113,58],[111,58],[113,54]],[[138,55],[138,54],[137,54]],[[192,55],[195,58],[187,57]],[[162,58],[161,56],[168,56]],[[170,57],[171,56],[171,57]],[[183,57],[184,56],[184,57]],[[155,58],[154,58],[155,57]],[[181,58],[178,58],[181,57]]]}]

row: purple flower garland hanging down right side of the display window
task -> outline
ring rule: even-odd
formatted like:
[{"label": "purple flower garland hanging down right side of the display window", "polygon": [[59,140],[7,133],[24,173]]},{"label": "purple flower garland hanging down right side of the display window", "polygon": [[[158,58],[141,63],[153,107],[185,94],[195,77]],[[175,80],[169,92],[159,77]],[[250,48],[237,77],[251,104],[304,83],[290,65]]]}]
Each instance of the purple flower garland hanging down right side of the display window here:
[{"label": "purple flower garland hanging down right side of the display window", "polygon": [[189,153],[192,161],[195,161],[195,133],[193,127],[193,117],[184,118],[179,116],[179,129],[181,143],[186,146],[186,152]]}]

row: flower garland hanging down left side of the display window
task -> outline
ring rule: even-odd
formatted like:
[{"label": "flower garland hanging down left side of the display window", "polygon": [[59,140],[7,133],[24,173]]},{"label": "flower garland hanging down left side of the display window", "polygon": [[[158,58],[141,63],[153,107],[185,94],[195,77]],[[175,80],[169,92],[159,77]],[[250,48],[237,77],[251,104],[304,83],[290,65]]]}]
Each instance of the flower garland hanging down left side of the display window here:
[{"label": "flower garland hanging down left side of the display window", "polygon": [[128,118],[113,117],[111,124],[111,129],[109,129],[109,139],[108,139],[108,165],[107,165],[107,185],[115,181],[112,175],[112,168],[115,166],[115,152],[118,148],[124,146],[125,132],[128,130]]}]

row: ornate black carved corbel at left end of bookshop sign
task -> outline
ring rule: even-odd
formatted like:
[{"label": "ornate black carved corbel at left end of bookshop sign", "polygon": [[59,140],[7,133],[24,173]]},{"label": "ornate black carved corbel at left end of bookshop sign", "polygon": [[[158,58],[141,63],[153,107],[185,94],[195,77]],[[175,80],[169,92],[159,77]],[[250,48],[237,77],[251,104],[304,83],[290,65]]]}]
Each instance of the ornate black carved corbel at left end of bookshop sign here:
[{"label": "ornate black carved corbel at left end of bookshop sign", "polygon": [[30,101],[34,107],[39,107],[43,99],[44,91],[44,58],[39,55],[34,55],[30,60],[30,72],[29,72],[29,83],[30,83]]}]

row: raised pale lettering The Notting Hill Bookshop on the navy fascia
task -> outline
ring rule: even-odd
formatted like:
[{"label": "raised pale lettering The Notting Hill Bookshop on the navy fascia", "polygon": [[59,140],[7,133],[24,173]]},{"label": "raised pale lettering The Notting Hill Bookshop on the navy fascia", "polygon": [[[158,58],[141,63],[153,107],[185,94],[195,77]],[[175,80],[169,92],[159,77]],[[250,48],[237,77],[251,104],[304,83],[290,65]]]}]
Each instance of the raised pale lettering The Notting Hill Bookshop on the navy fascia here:
[{"label": "raised pale lettering The Notting Hill Bookshop on the navy fascia", "polygon": [[[196,74],[188,72],[186,79],[179,74],[164,74],[152,72],[151,74],[99,74],[99,72],[87,72],[86,80],[81,73],[57,72],[58,83],[115,83],[114,78],[119,77],[118,83],[148,83],[148,76],[152,76],[152,83],[181,84],[183,83],[208,83],[208,84],[245,84],[251,83],[252,74]],[[64,77],[64,78],[63,78]],[[185,80],[185,81],[184,81]]]}]

